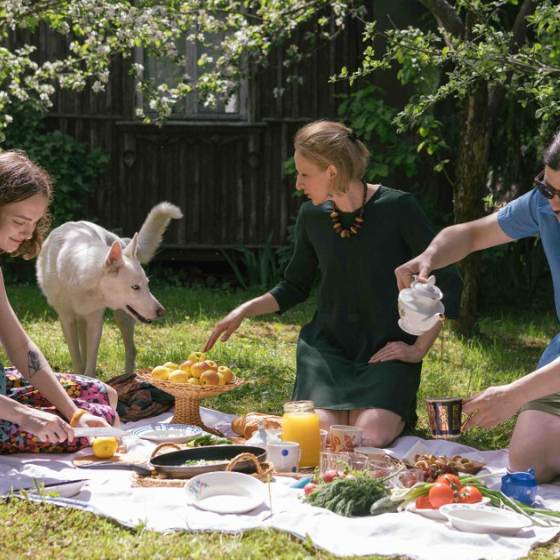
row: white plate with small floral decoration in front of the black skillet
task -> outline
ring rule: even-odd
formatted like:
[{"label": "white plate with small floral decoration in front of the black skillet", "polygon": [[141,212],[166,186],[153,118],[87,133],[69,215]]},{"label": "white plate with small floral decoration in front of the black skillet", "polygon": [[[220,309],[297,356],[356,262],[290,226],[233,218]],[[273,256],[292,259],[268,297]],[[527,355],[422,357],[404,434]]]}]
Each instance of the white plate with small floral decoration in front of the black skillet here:
[{"label": "white plate with small floral decoration in front of the black skillet", "polygon": [[246,513],[266,498],[266,487],[260,480],[229,471],[194,476],[185,491],[187,504],[215,513]]}]

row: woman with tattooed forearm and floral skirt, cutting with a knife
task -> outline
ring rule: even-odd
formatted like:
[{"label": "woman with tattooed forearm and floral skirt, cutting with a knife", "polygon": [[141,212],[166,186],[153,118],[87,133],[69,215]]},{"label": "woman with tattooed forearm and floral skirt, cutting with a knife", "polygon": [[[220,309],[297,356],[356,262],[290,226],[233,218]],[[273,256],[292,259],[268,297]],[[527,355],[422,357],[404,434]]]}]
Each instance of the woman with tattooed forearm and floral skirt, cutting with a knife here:
[{"label": "woman with tattooed forearm and floral skirt, cutting with a knife", "polygon": [[[49,225],[51,180],[25,153],[0,154],[0,252],[30,259]],[[89,444],[76,426],[118,422],[116,392],[104,383],[54,373],[16,317],[0,271],[0,342],[15,368],[0,366],[0,453],[69,452]]]}]

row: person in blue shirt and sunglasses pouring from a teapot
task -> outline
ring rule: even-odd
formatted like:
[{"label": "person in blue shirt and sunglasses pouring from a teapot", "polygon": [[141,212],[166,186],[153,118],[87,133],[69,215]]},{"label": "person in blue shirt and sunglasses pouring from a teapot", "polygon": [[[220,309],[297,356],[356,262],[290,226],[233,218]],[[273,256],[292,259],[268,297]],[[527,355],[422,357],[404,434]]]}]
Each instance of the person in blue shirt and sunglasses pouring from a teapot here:
[{"label": "person in blue shirt and sunglasses pouring from a teapot", "polygon": [[[499,212],[443,229],[418,257],[395,270],[399,289],[412,275],[427,279],[434,269],[455,263],[474,251],[539,235],[554,285],[560,320],[560,133],[544,154],[544,170],[535,188]],[[509,385],[490,387],[465,403],[468,427],[495,426],[521,411],[511,437],[511,470],[534,468],[540,482],[560,474],[560,334],[543,352],[537,370]],[[554,381],[553,381],[554,380]],[[544,395],[544,396],[543,396]],[[536,398],[535,397],[540,397]]]}]

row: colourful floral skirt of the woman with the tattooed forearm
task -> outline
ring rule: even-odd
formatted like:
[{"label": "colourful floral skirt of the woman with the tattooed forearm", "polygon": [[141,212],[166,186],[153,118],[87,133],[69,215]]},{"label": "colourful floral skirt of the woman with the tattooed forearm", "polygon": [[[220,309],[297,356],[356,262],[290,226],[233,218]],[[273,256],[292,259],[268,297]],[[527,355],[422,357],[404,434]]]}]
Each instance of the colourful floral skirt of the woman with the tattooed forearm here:
[{"label": "colourful floral skirt of the woman with the tattooed forearm", "polygon": [[[38,389],[14,368],[6,368],[6,395],[15,401],[62,416]],[[107,386],[97,379],[73,373],[55,373],[58,381],[78,408],[101,416],[109,424],[115,421],[115,410],[109,404]],[[24,432],[17,424],[0,419],[0,454],[7,453],[72,453],[90,445],[88,438],[72,442],[41,442]]]}]

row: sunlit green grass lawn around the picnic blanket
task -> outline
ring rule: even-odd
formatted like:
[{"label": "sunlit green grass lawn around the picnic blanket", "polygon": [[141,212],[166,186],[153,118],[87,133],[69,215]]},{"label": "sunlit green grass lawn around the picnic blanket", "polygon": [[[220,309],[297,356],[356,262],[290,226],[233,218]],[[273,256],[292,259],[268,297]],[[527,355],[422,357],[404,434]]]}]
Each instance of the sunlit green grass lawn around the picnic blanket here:
[{"label": "sunlit green grass lawn around the picnic blanket", "polygon": [[[200,349],[214,323],[256,292],[205,288],[153,287],[167,308],[165,318],[138,325],[138,367],[182,361]],[[70,359],[56,316],[35,287],[8,287],[12,305],[54,369],[70,370]],[[224,412],[250,410],[280,414],[289,400],[295,375],[295,342],[300,327],[311,318],[309,301],[281,317],[246,321],[227,344],[218,344],[211,357],[235,366],[248,383],[205,402]],[[110,313],[108,313],[110,315]],[[490,384],[504,383],[532,370],[543,348],[558,330],[550,311],[492,313],[480,322],[481,335],[461,339],[447,327],[424,362],[415,435],[429,437],[428,396],[466,396]],[[7,363],[0,353],[0,361]],[[108,379],[121,373],[124,349],[118,330],[108,318],[98,358],[98,374]],[[490,431],[473,430],[461,442],[479,449],[507,446],[513,422]],[[128,530],[89,513],[20,500],[0,504],[0,558],[333,558],[277,531],[256,530],[243,535],[180,533],[162,535],[143,528]],[[534,550],[529,558],[560,555],[560,540]],[[371,557],[374,558],[374,557]]]}]

